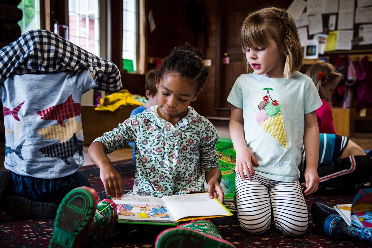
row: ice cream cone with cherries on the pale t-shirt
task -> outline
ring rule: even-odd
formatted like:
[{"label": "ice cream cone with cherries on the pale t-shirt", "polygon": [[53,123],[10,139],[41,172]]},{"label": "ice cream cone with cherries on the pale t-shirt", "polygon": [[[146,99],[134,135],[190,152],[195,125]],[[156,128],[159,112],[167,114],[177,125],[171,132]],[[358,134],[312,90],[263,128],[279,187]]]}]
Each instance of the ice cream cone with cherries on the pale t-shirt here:
[{"label": "ice cream cone with cherries on the pale t-shirt", "polygon": [[269,90],[273,90],[272,88],[264,88],[263,90],[267,90],[266,96],[262,97],[259,92],[259,111],[256,113],[256,120],[264,131],[284,148],[288,148],[282,113],[280,112],[281,107],[278,101],[272,100],[270,97]]}]

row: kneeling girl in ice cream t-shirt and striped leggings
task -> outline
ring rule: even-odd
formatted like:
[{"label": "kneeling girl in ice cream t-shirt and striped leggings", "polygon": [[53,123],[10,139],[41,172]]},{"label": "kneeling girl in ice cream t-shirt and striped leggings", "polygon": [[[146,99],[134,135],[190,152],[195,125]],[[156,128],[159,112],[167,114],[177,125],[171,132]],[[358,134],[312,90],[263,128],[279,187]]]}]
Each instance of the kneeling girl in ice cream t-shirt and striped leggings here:
[{"label": "kneeling girl in ice cream t-shirt and striped leggings", "polygon": [[288,237],[303,235],[308,210],[299,184],[305,149],[305,195],[314,193],[322,103],[314,83],[298,72],[303,54],[296,25],[283,9],[248,15],[240,29],[247,74],[235,81],[230,135],[237,154],[235,205],[241,228],[265,233],[273,222]]}]

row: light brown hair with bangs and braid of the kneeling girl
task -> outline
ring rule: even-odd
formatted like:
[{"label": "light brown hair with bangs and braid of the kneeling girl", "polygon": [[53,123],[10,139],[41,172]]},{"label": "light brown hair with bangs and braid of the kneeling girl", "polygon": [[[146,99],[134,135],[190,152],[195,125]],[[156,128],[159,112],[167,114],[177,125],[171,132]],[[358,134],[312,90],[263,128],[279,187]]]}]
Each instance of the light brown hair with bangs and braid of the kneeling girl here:
[{"label": "light brown hair with bangs and braid of the kneeling girl", "polygon": [[[291,78],[301,68],[304,54],[296,24],[286,10],[266,7],[250,13],[240,29],[239,41],[246,52],[247,48],[269,45],[270,37],[287,52],[283,74]],[[246,63],[247,72],[253,73],[253,68]]]}]

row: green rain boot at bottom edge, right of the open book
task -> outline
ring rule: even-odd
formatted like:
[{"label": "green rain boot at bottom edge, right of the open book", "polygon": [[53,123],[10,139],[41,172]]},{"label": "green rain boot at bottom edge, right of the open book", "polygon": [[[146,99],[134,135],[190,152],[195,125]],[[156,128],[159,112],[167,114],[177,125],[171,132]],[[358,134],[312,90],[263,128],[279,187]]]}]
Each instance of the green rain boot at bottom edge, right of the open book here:
[{"label": "green rain boot at bottom edge, right of the open book", "polygon": [[192,220],[159,233],[155,248],[232,248],[210,220]]}]

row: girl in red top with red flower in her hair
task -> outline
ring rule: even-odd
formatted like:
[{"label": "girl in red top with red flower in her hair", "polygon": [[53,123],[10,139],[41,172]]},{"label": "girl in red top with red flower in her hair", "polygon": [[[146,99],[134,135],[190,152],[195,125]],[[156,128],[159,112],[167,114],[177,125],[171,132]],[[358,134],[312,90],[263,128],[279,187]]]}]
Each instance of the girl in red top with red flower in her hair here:
[{"label": "girl in red top with red flower in her hair", "polygon": [[319,132],[337,134],[333,126],[332,109],[327,101],[331,100],[332,92],[340,83],[341,73],[330,63],[317,61],[309,67],[306,75],[311,77],[323,103],[317,109]]}]

